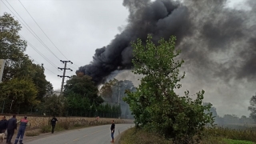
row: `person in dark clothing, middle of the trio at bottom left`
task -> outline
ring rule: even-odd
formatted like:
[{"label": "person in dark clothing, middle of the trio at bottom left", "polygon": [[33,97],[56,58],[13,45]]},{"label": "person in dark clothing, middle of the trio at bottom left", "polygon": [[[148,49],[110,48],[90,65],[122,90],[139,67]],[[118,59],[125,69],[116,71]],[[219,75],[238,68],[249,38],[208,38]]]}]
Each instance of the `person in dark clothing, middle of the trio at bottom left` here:
[{"label": "person in dark clothing, middle of the trio at bottom left", "polygon": [[17,130],[17,119],[16,115],[13,115],[13,118],[10,118],[7,121],[7,137],[6,143],[10,144],[11,138],[14,136],[14,130]]}]

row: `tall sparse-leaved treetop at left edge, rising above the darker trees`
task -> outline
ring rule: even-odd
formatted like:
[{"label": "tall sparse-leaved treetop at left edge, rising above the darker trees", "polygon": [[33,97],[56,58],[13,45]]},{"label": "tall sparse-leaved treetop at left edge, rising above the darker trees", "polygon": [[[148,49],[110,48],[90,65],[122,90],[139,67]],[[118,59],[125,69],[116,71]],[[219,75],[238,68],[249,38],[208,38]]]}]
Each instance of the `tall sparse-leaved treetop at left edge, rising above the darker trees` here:
[{"label": "tall sparse-leaved treetop at left edge, rising above the darker trees", "polygon": [[[2,82],[14,78],[14,75],[24,76],[26,65],[29,58],[24,52],[26,51],[26,41],[20,38],[18,31],[22,26],[14,20],[10,14],[4,13],[0,18],[0,23],[4,27],[1,33],[0,58],[6,59],[6,66],[2,76]],[[25,66],[25,67],[24,67]]]}]

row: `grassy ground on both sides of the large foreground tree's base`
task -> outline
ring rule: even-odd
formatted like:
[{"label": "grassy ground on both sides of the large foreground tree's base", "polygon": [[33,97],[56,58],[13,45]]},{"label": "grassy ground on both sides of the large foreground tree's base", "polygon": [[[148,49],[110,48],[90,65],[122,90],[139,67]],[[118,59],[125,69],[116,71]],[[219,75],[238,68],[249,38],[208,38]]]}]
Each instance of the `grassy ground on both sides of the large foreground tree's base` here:
[{"label": "grassy ground on both sides of the large foreground tree's base", "polygon": [[[244,127],[243,130],[235,130],[223,127],[207,128],[201,144],[253,144],[256,143],[256,127]],[[135,130],[130,128],[126,130],[120,141],[120,144],[172,144],[157,134],[151,134],[145,130]]]}]

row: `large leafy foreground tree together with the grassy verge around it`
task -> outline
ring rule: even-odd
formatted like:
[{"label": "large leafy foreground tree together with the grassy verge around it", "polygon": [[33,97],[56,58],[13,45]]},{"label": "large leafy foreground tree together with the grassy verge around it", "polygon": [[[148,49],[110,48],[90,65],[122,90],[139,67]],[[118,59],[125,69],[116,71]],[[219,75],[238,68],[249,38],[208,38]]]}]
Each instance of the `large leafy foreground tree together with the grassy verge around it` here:
[{"label": "large leafy foreground tree together with the grassy verge around it", "polygon": [[[144,77],[135,92],[126,90],[124,101],[134,114],[135,127],[126,130],[119,143],[256,142],[256,128],[241,130],[214,126],[217,114],[213,115],[210,103],[203,102],[204,90],[199,91],[194,99],[190,98],[188,90],[184,96],[175,94],[175,90],[182,87],[182,78],[185,78],[185,72],[179,71],[184,61],[179,59],[181,51],[175,49],[175,41],[174,36],[167,41],[161,38],[155,45],[152,36],[148,35],[146,42],[141,39],[132,42],[134,74]],[[227,124],[223,121],[226,117],[236,119],[226,115],[218,121]],[[237,119],[239,122],[247,120],[246,117]]]}]

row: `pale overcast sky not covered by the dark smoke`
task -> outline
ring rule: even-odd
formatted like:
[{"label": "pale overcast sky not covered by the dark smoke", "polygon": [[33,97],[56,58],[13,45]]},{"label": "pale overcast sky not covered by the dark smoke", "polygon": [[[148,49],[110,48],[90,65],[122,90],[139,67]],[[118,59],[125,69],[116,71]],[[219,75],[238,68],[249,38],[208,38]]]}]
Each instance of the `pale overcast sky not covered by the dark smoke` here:
[{"label": "pale overcast sky not covered by the dark smoke", "polygon": [[[243,6],[242,0],[230,0],[229,2],[228,6],[230,7],[246,8]],[[15,19],[19,19],[25,24],[20,22],[22,30],[19,34],[30,43],[27,46],[26,54],[34,60],[34,63],[44,64],[46,79],[53,84],[54,90],[61,88],[62,78],[57,75],[62,75],[63,71],[58,70],[58,67],[62,68],[64,64],[60,60],[73,62],[73,65],[70,63],[67,65],[73,71],[67,70],[66,75],[75,74],[79,66],[85,66],[93,60],[92,57],[97,48],[107,46],[116,34],[120,34],[122,28],[127,24],[129,15],[129,10],[122,6],[122,0],[1,0],[0,15],[4,12],[12,14]],[[42,42],[35,38],[34,33]],[[38,54],[32,46],[41,54]],[[186,87],[186,84],[184,86]],[[209,84],[208,87],[212,88],[213,86]],[[240,89],[244,88],[240,86]],[[249,88],[250,93],[240,91],[241,94],[248,95],[246,101],[243,102],[235,101],[237,98],[218,99],[212,96],[206,97],[206,100],[214,103],[218,114],[230,113],[248,116],[247,106],[249,106],[249,98],[252,96],[250,94],[253,89],[253,87]],[[214,89],[206,88],[206,90],[214,94],[216,91],[221,93],[224,89],[214,86]],[[222,103],[224,100],[234,101],[238,108]]]}]

